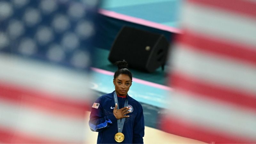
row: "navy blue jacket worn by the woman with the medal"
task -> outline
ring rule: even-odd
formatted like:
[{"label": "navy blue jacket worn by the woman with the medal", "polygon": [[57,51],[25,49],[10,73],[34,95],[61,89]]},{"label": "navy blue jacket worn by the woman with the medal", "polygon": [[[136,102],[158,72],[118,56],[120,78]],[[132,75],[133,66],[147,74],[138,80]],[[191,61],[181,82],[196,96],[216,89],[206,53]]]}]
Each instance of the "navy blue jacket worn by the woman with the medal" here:
[{"label": "navy blue jacket worn by the woman with the medal", "polygon": [[[115,92],[115,91],[114,91]],[[97,143],[118,143],[115,140],[117,131],[117,119],[113,114],[115,108],[114,92],[98,98],[95,103],[98,108],[92,107],[89,126],[93,132],[98,133]],[[121,143],[143,143],[144,137],[144,116],[141,104],[127,94],[126,98],[117,97],[119,109],[124,108],[125,99],[128,99],[128,106],[132,112],[125,118],[122,133],[124,141]]]}]

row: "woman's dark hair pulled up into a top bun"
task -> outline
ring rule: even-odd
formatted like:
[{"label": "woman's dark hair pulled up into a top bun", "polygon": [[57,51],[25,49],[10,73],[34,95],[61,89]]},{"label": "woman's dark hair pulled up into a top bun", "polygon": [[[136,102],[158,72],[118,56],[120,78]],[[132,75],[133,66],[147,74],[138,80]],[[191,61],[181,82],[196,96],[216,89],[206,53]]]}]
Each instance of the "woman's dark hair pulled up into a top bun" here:
[{"label": "woman's dark hair pulled up into a top bun", "polygon": [[132,73],[130,72],[128,68],[128,63],[123,60],[123,61],[116,61],[115,65],[117,65],[118,70],[114,74],[114,79],[119,76],[120,74],[128,75],[131,80],[132,80]]}]

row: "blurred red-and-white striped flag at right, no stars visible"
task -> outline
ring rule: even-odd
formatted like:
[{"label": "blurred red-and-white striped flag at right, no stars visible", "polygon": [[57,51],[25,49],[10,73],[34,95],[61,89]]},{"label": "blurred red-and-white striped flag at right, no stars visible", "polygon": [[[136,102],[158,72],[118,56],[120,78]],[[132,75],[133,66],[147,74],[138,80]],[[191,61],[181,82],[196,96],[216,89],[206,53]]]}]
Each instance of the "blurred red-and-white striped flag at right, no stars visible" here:
[{"label": "blurred red-and-white striped flag at right, no stars visible", "polygon": [[163,130],[207,143],[255,143],[256,3],[188,0],[183,8]]}]

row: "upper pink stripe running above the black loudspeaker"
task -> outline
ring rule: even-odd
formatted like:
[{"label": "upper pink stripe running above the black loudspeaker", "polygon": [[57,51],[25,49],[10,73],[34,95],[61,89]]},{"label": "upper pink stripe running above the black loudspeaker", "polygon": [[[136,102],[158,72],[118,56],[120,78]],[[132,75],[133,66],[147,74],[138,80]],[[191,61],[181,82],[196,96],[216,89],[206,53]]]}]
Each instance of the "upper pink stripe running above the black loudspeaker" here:
[{"label": "upper pink stripe running above the black loudspeaker", "polygon": [[157,29],[161,29],[161,30],[165,30],[165,31],[169,31],[169,32],[177,33],[177,34],[182,33],[181,30],[178,28],[165,26],[165,25],[162,25],[162,24],[159,24],[156,22],[143,20],[140,18],[135,18],[132,16],[128,16],[128,15],[124,15],[124,14],[120,14],[120,13],[116,13],[116,12],[112,12],[112,11],[108,11],[108,10],[104,10],[104,9],[99,9],[99,13],[102,15],[108,16],[108,17],[116,18],[119,20],[125,20],[125,21],[137,23],[137,24],[152,27],[152,28],[157,28]]}]

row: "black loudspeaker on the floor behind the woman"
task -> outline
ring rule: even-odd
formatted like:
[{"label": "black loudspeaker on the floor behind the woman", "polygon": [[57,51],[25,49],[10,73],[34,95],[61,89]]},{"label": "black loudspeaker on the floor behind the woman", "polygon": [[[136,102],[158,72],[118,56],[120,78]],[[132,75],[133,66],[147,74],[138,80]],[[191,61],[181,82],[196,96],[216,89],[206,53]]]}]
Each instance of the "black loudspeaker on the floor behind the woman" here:
[{"label": "black loudspeaker on the floor behind the woman", "polygon": [[108,60],[125,60],[129,68],[154,72],[167,59],[169,42],[164,35],[131,27],[123,27],[111,47]]}]

